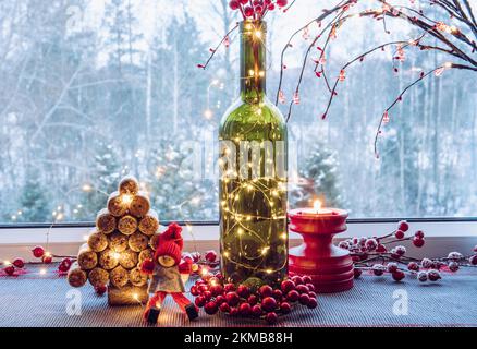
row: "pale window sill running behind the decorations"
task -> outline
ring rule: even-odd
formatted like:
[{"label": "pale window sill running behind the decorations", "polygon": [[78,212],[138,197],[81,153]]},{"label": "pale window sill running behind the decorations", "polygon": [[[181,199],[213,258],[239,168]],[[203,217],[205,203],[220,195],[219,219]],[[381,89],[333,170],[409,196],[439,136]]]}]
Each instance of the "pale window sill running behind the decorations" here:
[{"label": "pale window sill running behind the decorations", "polygon": [[[467,253],[477,244],[477,221],[474,219],[414,219],[412,230],[424,230],[426,232],[426,245],[416,251],[413,255],[442,256],[451,251]],[[29,250],[36,244],[47,244],[54,254],[75,255],[81,244],[86,240],[93,226],[62,225],[50,229],[48,226],[24,226],[2,227],[0,229],[0,257],[13,258],[16,256],[30,260]],[[350,220],[348,229],[338,236],[338,239],[383,234],[395,228],[395,220]],[[194,224],[184,228],[184,240],[186,251],[218,250],[219,227],[217,224]],[[296,233],[290,234],[290,245],[301,243],[301,237]],[[406,245],[406,243],[403,243]]]}]

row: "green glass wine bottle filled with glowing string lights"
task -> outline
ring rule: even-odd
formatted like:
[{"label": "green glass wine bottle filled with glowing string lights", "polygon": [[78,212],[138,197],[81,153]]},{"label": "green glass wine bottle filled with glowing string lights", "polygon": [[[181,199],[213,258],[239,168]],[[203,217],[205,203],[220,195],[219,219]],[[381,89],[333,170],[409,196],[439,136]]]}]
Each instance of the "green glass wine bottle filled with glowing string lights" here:
[{"label": "green glass wine bottle filled with glowing string lights", "polygon": [[241,93],[220,141],[221,268],[230,282],[277,284],[288,274],[288,133],[267,98],[267,25],[241,23]]}]

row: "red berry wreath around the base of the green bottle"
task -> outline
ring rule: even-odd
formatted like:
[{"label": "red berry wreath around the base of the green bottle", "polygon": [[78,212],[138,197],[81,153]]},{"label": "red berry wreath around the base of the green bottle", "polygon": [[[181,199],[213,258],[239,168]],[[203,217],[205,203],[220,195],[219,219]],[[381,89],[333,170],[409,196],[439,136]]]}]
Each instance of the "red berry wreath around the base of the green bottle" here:
[{"label": "red berry wreath around the base of the green bottle", "polygon": [[264,285],[258,289],[246,285],[225,284],[221,274],[206,275],[191,288],[195,304],[208,315],[218,312],[231,316],[264,318],[276,324],[279,315],[289,314],[292,304],[309,309],[318,306],[315,287],[308,276],[293,276],[279,287]]}]

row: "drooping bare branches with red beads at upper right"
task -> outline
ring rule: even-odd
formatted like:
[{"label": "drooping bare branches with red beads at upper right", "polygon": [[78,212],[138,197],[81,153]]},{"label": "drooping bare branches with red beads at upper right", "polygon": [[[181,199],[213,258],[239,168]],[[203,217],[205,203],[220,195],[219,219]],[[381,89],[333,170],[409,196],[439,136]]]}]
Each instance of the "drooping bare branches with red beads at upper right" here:
[{"label": "drooping bare branches with red beads at upper right", "polygon": [[[325,45],[322,47],[317,46],[317,49],[319,50],[320,53],[318,59],[313,59],[313,61],[315,62],[314,73],[316,74],[317,77],[323,77],[325,84],[328,91],[330,92],[330,98],[326,111],[321,116],[322,119],[327,118],[331,103],[333,98],[338,95],[337,93],[338,82],[345,80],[346,76],[345,69],[356,61],[359,62],[364,61],[366,56],[377,51],[378,49],[381,48],[383,50],[386,46],[396,46],[396,55],[393,55],[392,57],[394,72],[399,71],[399,69],[394,65],[394,62],[399,61],[402,63],[405,61],[404,48],[406,47],[416,47],[420,51],[433,50],[441,52],[444,56],[448,56],[449,59],[452,59],[452,61],[442,62],[441,65],[427,73],[423,72],[420,74],[420,77],[412,82],[409,85],[407,85],[399,94],[397,98],[390,105],[390,107],[388,107],[384,110],[384,112],[381,116],[378,130],[376,132],[375,153],[376,156],[379,157],[377,144],[378,144],[379,135],[381,134],[381,128],[383,124],[387,123],[387,121],[390,121],[389,112],[397,104],[397,101],[402,100],[405,92],[407,92],[411,87],[415,86],[417,83],[421,82],[425,77],[427,77],[431,73],[435,73],[436,76],[440,76],[442,72],[448,69],[460,69],[460,70],[468,70],[472,72],[477,72],[477,61],[473,57],[473,53],[475,53],[475,51],[477,50],[477,44],[475,39],[469,38],[469,35],[473,35],[474,38],[477,38],[477,23],[475,15],[473,13],[473,8],[468,0],[453,0],[453,1],[430,0],[420,3],[423,7],[428,7],[428,8],[438,7],[440,9],[443,9],[444,13],[449,16],[449,20],[455,20],[460,22],[462,24],[462,28],[455,25],[445,24],[442,21],[432,20],[430,16],[428,16],[425,13],[425,10],[417,8],[415,9],[412,7],[404,7],[404,5],[393,5],[391,3],[392,1],[386,1],[386,0],[372,0],[366,2],[366,3],[375,2],[376,4],[378,4],[377,9],[353,12],[352,9],[358,2],[360,3],[364,1],[362,0],[340,1],[334,8],[332,8],[331,10],[323,10],[323,13],[317,16],[314,21],[307,23],[305,26],[302,26],[298,31],[293,33],[288,44],[283,48],[281,56],[281,72],[280,72],[280,81],[279,81],[279,88],[277,92],[276,104],[278,105],[279,103],[285,101],[285,94],[283,93],[283,91],[281,91],[283,84],[283,74],[284,74],[284,70],[286,69],[286,64],[284,63],[284,53],[290,48],[293,47],[292,40],[299,33],[303,33],[304,38],[307,39],[309,33],[309,26],[315,22],[318,24],[319,28],[321,28],[321,22],[328,21],[328,23],[325,25],[325,29],[319,31],[319,34],[317,34],[314,37],[314,39],[311,40],[311,45],[308,46],[305,52],[305,60],[302,65],[302,70],[297,80],[296,87],[293,92],[293,100],[290,104],[286,120],[290,120],[291,118],[293,105],[299,103],[299,87],[302,84],[304,71],[309,61],[308,55],[311,48],[316,46],[316,44],[318,44],[318,41],[323,37],[323,34],[327,34]],[[412,1],[412,3],[414,3],[414,1]],[[346,14],[344,14],[345,12]],[[329,17],[331,17],[331,20],[328,20]],[[331,40],[337,38],[338,29],[342,27],[345,22],[348,22],[350,20],[356,17],[357,19],[370,17],[376,21],[382,21],[383,28],[387,34],[389,34],[389,31],[387,29],[387,25],[386,25],[387,17],[393,20],[404,20],[411,26],[417,27],[420,31],[423,31],[423,34],[418,39],[411,39],[411,40],[406,39],[396,43],[386,43],[359,55],[357,58],[348,61],[344,65],[344,68],[340,69],[339,74],[337,74],[338,77],[335,80],[334,86],[331,87],[329,84],[329,79],[327,77],[325,71],[325,64],[327,61],[326,58],[327,48],[331,43]],[[429,45],[426,43],[421,43],[425,36],[433,39],[438,44]]]}]

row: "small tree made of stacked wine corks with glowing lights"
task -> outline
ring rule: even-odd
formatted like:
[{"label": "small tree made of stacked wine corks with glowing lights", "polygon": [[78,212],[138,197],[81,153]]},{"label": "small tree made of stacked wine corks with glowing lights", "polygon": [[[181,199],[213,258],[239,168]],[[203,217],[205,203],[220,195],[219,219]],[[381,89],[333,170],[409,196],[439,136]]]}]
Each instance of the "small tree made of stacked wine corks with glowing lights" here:
[{"label": "small tree made of stacked wine corks with glowing lights", "polygon": [[110,305],[146,303],[148,277],[140,273],[140,263],[154,255],[158,233],[158,214],[148,196],[135,178],[122,179],[80,249],[68,276],[70,285],[83,287],[89,281],[95,289],[107,287]]}]

